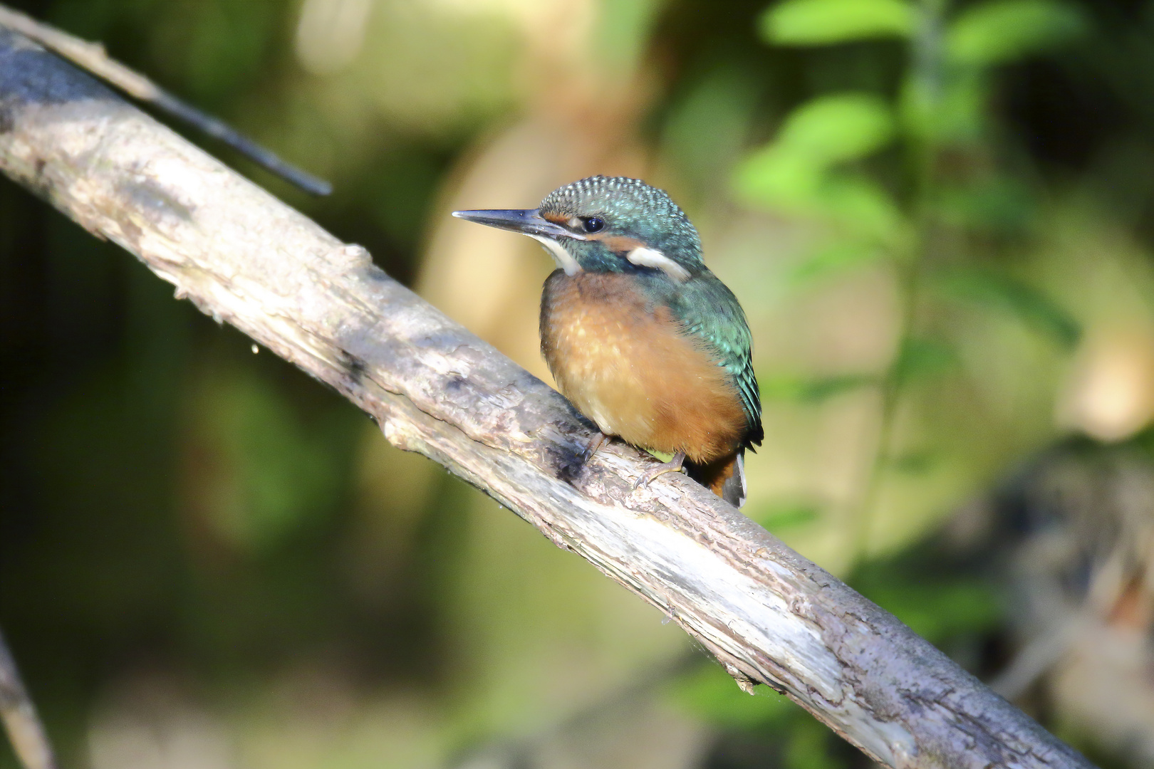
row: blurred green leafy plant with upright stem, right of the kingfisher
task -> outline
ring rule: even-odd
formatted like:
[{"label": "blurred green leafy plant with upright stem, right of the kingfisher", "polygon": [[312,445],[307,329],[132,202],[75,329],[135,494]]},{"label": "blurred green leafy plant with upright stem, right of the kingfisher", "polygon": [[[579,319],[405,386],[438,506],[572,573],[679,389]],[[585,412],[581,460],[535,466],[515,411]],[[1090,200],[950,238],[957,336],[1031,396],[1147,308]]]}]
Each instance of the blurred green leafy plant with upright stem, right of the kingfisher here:
[{"label": "blurred green leafy plant with upright stem, right of the kingfisher", "polygon": [[899,339],[886,370],[786,386],[771,377],[764,391],[771,399],[792,392],[801,402],[819,402],[876,383],[881,435],[856,511],[864,521],[860,546],[868,550],[868,520],[886,469],[929,469],[896,458],[935,454],[900,446],[896,422],[920,397],[912,391],[941,389],[945,375],[984,376],[967,371],[957,327],[946,321],[950,302],[1004,312],[1064,350],[1079,341],[1080,324],[1069,309],[1024,280],[1011,259],[990,258],[1036,246],[1041,193],[1035,178],[998,157],[1004,127],[991,107],[996,67],[1059,51],[1085,37],[1088,22],[1079,8],[1055,0],[958,8],[932,0],[786,0],[765,12],[760,31],[777,46],[872,45],[883,56],[896,39],[906,50],[887,82],[802,100],[733,176],[739,199],[820,227],[793,273],[799,286],[863,269],[897,278]]}]

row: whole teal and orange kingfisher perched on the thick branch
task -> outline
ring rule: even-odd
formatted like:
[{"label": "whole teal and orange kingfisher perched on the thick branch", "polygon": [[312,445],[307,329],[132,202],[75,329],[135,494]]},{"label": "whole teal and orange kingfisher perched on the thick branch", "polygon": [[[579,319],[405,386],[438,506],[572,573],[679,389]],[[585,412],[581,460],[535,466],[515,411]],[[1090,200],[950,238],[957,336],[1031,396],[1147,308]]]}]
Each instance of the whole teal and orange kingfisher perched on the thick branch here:
[{"label": "whole teal and orange kingfisher perched on the thick branch", "polygon": [[529,210],[455,211],[529,235],[557,269],[541,294],[541,353],[561,393],[609,437],[672,454],[634,488],[680,472],[741,507],[762,404],[745,314],[664,190],[590,176]]}]

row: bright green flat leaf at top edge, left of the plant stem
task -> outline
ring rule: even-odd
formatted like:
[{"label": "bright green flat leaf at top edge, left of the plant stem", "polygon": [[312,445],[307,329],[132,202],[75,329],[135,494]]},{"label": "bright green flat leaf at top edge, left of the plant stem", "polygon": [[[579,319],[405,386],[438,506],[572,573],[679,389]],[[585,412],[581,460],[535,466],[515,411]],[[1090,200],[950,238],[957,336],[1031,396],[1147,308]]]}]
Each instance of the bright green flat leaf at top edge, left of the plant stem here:
[{"label": "bright green flat leaf at top edge, left of the plant stem", "polygon": [[779,45],[826,45],[908,37],[914,12],[902,0],[785,0],[762,15],[762,36]]}]

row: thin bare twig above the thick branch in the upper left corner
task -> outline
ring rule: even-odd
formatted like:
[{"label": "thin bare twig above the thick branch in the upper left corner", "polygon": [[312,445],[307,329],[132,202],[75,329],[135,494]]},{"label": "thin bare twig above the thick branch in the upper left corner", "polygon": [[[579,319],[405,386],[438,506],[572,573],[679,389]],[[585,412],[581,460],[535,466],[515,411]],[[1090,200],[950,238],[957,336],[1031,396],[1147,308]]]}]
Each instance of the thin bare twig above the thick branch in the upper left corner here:
[{"label": "thin bare twig above the thick branch in the upper left corner", "polygon": [[332,191],[332,184],[325,180],[282,160],[275,152],[261,146],[223,120],[204,114],[190,104],[168,93],[144,75],[110,59],[104,46],[99,43],[88,43],[73,37],[3,5],[0,5],[0,24],[36,40],[53,53],[78,65],[134,99],[150,104],[160,112],[182,120],[212,138],[224,142],[253,163],[306,193],[329,195]]}]

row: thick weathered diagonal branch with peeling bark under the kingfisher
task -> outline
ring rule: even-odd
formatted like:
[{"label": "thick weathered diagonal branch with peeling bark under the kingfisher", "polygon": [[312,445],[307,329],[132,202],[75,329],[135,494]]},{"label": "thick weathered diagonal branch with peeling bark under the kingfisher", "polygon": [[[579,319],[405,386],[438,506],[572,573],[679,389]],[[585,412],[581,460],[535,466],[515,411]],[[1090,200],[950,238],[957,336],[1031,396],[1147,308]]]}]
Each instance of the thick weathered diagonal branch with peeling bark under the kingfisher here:
[{"label": "thick weathered diagonal branch with peeling bark under the kingfisher", "polygon": [[[369,255],[0,29],[0,168],[665,611],[748,688],[891,767],[1087,767],[893,616],[552,389]],[[464,225],[463,225],[464,226]]]}]

